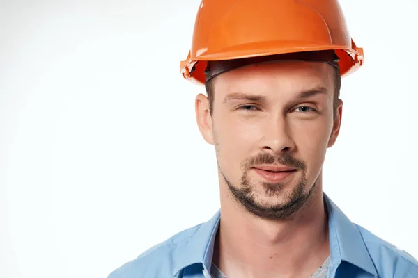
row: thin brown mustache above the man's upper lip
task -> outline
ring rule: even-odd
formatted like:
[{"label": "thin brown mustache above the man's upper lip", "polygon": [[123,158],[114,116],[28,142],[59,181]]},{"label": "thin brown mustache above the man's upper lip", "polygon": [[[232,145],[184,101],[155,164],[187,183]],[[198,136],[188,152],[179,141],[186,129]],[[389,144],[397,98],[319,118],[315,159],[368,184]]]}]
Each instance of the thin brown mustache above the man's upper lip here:
[{"label": "thin brown mustache above the man's upper lip", "polygon": [[306,169],[306,163],[300,161],[299,159],[294,158],[291,154],[284,154],[282,156],[273,156],[272,154],[264,153],[258,154],[251,158],[247,158],[244,163],[242,163],[242,168],[244,170],[250,169],[256,165],[274,165],[280,164],[287,167],[298,168],[301,170]]}]

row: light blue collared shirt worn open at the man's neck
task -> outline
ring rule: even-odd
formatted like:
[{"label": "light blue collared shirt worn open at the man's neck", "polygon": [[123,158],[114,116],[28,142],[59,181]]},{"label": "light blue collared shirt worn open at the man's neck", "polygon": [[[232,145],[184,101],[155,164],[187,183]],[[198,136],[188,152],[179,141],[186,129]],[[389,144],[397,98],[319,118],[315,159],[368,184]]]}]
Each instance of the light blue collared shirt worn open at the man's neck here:
[{"label": "light blue collared shirt worn open at the man's neck", "polygon": [[[324,193],[328,213],[331,262],[328,278],[417,278],[418,261],[407,252],[353,224]],[[108,278],[208,278],[220,211],[134,261]]]}]

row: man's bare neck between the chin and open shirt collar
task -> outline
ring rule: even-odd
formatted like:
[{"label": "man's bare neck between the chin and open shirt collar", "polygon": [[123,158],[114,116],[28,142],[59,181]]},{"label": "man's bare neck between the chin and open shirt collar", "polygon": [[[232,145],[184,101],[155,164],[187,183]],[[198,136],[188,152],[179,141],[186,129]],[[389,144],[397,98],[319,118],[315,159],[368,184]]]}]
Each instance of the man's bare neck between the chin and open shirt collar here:
[{"label": "man's bare neck between the chin and open shirt collar", "polygon": [[330,255],[322,186],[291,220],[263,220],[221,198],[213,262],[229,277],[310,277]]}]

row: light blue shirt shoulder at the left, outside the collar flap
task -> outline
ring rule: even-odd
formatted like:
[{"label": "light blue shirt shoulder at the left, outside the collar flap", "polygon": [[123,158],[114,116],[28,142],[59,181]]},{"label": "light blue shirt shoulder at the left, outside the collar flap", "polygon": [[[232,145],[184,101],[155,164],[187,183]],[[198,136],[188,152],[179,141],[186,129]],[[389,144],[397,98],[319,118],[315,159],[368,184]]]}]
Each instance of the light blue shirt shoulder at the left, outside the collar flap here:
[{"label": "light blue shirt shoulder at the left, outside the collar flap", "polygon": [[107,278],[172,277],[175,259],[181,256],[189,238],[196,233],[201,225],[180,231],[164,242],[151,247],[139,255],[137,259],[129,261],[111,272]]}]

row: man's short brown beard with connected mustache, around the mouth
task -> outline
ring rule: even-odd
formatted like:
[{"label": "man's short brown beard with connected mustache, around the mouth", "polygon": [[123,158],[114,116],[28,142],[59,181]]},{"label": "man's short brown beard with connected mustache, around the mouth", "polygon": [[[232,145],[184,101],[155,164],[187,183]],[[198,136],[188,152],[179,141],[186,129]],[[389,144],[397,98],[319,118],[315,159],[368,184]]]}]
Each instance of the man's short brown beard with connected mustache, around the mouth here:
[{"label": "man's short brown beard with connected mustache, around the mouth", "polygon": [[[261,185],[268,197],[282,197],[284,202],[280,204],[261,204],[257,202],[256,193],[254,192],[256,186],[251,183],[249,178],[249,171],[256,165],[284,165],[287,167],[294,167],[302,171],[302,176],[297,181],[296,186],[291,190],[291,193],[284,193],[284,183],[268,183],[263,182]],[[266,220],[288,220],[291,219],[297,211],[300,211],[311,199],[316,190],[316,181],[308,192],[306,178],[306,164],[303,161],[293,158],[290,154],[284,156],[272,156],[271,154],[260,154],[253,158],[248,158],[241,164],[242,177],[240,186],[235,186],[229,181],[224,172],[222,172],[219,163],[219,170],[224,177],[224,181],[229,188],[233,198],[245,208],[249,213]]]}]

